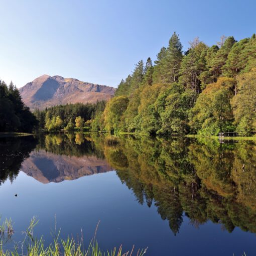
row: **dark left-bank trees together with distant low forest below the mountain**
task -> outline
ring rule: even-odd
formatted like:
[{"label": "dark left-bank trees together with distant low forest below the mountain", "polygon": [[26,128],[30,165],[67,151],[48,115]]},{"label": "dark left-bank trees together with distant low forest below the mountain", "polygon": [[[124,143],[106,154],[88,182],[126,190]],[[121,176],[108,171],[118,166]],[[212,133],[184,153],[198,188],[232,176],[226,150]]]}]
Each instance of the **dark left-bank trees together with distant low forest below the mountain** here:
[{"label": "dark left-bank trees together with distant low forest below the mountain", "polygon": [[59,130],[90,129],[91,119],[105,108],[104,100],[96,103],[57,105],[33,113],[27,107],[18,88],[0,80],[0,132],[25,132],[36,130],[56,132]]}]

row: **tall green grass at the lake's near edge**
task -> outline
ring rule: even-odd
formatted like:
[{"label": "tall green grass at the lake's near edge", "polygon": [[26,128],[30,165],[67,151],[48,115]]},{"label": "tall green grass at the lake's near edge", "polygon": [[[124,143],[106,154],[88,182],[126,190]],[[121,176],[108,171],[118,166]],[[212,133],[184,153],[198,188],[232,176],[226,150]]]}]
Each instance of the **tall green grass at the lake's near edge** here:
[{"label": "tall green grass at the lake's near edge", "polygon": [[[45,246],[43,236],[37,238],[34,236],[34,228],[38,220],[32,218],[29,227],[24,231],[24,240],[16,243],[13,249],[5,249],[4,245],[11,240],[14,234],[12,220],[6,219],[0,226],[0,256],[143,256],[147,252],[146,249],[139,249],[135,251],[135,246],[130,251],[123,251],[122,245],[113,247],[111,250],[103,251],[96,240],[95,230],[94,237],[91,239],[87,247],[84,248],[83,236],[76,241],[73,237],[60,239],[60,230],[52,234],[53,242]],[[98,223],[99,224],[99,223]]]}]

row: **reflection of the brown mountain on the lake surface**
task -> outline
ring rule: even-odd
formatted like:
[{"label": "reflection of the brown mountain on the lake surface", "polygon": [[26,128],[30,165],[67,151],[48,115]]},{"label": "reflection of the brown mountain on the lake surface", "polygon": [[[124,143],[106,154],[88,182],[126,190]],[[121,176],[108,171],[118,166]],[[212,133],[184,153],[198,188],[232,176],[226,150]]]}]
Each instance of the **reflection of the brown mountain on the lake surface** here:
[{"label": "reflection of the brown mountain on the lake surface", "polygon": [[112,170],[106,160],[98,159],[96,156],[69,157],[44,150],[30,153],[30,157],[23,162],[21,168],[21,171],[41,183],[75,180]]}]

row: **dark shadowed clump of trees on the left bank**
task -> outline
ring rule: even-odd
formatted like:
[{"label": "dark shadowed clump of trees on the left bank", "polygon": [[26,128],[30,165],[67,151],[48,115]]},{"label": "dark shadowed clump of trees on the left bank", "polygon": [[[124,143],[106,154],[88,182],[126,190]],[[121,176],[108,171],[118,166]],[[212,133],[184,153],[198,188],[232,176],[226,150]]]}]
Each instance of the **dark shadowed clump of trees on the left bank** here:
[{"label": "dark shadowed clump of trees on the left bank", "polygon": [[22,101],[19,90],[0,80],[0,132],[32,132],[36,117]]}]

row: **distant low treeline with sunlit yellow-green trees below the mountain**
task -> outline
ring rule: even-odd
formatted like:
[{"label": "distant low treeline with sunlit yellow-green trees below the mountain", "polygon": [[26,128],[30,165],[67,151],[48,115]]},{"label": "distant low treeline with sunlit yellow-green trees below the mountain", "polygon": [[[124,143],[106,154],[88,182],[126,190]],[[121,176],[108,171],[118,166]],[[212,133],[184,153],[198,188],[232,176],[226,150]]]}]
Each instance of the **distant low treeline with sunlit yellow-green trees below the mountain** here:
[{"label": "distant low treeline with sunlit yellow-green trees below the mountain", "polygon": [[35,110],[34,114],[38,120],[38,129],[54,132],[58,130],[73,130],[75,127],[82,130],[90,127],[91,119],[105,108],[105,101],[96,103],[75,103],[57,105],[45,110]]}]

